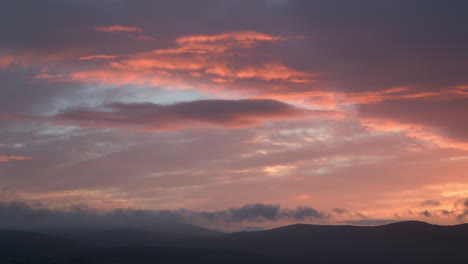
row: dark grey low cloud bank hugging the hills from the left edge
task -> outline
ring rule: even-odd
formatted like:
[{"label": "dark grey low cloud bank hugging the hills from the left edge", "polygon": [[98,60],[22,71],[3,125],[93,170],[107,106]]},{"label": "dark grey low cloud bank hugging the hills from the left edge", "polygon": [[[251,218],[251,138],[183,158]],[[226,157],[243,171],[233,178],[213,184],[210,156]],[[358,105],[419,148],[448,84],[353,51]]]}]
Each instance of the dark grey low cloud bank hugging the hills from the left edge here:
[{"label": "dark grey low cloud bank hugging the hills from the left edge", "polygon": [[247,204],[221,211],[197,212],[180,210],[138,210],[117,208],[99,212],[85,205],[62,210],[21,201],[0,202],[1,228],[157,228],[163,224],[265,222],[280,220],[326,219],[329,216],[310,207],[280,209],[279,205]]}]

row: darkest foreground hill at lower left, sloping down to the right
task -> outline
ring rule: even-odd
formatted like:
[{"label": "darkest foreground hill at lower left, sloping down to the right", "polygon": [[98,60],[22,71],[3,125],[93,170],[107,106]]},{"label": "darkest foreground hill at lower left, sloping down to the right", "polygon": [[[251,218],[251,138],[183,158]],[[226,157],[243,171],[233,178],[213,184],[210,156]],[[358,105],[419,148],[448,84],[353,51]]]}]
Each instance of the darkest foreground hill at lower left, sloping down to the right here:
[{"label": "darkest foreground hill at lower left, sloping down to the right", "polygon": [[168,247],[97,247],[23,231],[0,231],[0,263],[8,264],[237,264],[286,261],[252,252]]}]

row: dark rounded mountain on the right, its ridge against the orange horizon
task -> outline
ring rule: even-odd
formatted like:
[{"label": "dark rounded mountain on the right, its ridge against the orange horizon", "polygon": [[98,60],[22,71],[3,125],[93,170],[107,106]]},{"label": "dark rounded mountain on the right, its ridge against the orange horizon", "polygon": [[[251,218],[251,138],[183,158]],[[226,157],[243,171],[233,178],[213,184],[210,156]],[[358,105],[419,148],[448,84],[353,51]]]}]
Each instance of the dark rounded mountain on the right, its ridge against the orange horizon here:
[{"label": "dark rounded mountain on the right, its ridge against the orange horizon", "polygon": [[228,234],[205,246],[309,263],[468,263],[468,224],[292,225]]}]

